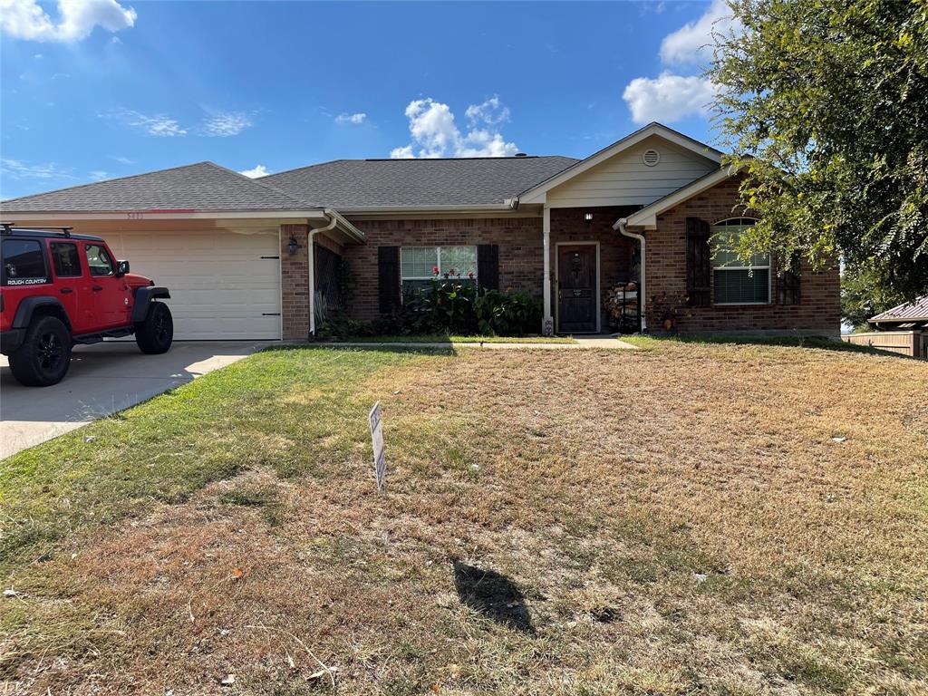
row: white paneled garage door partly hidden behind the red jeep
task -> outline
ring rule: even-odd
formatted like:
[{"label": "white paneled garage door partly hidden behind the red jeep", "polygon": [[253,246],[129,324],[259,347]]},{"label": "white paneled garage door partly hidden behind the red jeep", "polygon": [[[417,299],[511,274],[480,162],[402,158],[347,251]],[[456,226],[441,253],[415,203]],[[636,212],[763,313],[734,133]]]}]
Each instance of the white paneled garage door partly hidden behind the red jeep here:
[{"label": "white paneled garage door partly hidden behind the red jeep", "polygon": [[280,338],[277,232],[107,233],[133,273],[171,291],[174,338]]}]

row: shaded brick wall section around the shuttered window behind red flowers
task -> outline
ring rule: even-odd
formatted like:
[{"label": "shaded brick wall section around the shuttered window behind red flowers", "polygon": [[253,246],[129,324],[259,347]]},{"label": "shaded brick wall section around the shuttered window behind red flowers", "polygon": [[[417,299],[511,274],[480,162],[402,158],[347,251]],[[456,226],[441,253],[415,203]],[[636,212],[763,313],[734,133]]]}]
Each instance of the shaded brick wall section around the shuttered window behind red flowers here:
[{"label": "shaded brick wall section around the shuttered window behind red flowers", "polygon": [[367,244],[345,248],[345,259],[351,267],[348,311],[355,319],[369,321],[380,315],[377,275],[380,246],[498,244],[499,289],[541,296],[540,217],[352,222],[367,235]]}]

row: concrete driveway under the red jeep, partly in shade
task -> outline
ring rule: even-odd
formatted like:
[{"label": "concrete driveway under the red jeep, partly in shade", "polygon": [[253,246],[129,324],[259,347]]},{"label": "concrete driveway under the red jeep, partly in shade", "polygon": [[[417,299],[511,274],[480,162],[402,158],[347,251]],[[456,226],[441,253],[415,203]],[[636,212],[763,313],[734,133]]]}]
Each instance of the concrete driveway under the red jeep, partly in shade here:
[{"label": "concrete driveway under the red jeep, partly in shade", "polygon": [[135,342],[75,346],[67,377],[54,387],[23,387],[0,355],[0,459],[226,367],[268,344],[177,342],[163,355],[141,354]]}]

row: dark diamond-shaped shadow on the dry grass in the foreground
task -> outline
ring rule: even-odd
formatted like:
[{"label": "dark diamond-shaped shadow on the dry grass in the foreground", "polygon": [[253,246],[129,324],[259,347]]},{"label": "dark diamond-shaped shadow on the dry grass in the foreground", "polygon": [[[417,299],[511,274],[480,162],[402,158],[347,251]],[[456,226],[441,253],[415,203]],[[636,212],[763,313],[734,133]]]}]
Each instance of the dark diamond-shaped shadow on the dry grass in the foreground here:
[{"label": "dark diamond-shaped shadow on the dry grass in the foreground", "polygon": [[525,596],[506,575],[486,571],[460,561],[454,562],[455,589],[463,604],[497,624],[524,633],[535,633]]}]

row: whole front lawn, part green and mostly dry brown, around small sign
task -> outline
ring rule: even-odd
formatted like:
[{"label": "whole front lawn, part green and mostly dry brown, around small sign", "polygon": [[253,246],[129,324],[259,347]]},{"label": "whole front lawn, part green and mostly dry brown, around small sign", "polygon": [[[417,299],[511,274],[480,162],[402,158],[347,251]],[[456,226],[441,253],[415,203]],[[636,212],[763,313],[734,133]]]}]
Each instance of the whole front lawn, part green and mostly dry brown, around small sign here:
[{"label": "whole front lawn, part green and mostly dry brown, around small sign", "polygon": [[922,694],[926,390],[791,346],[254,354],[0,462],[0,693]]}]

